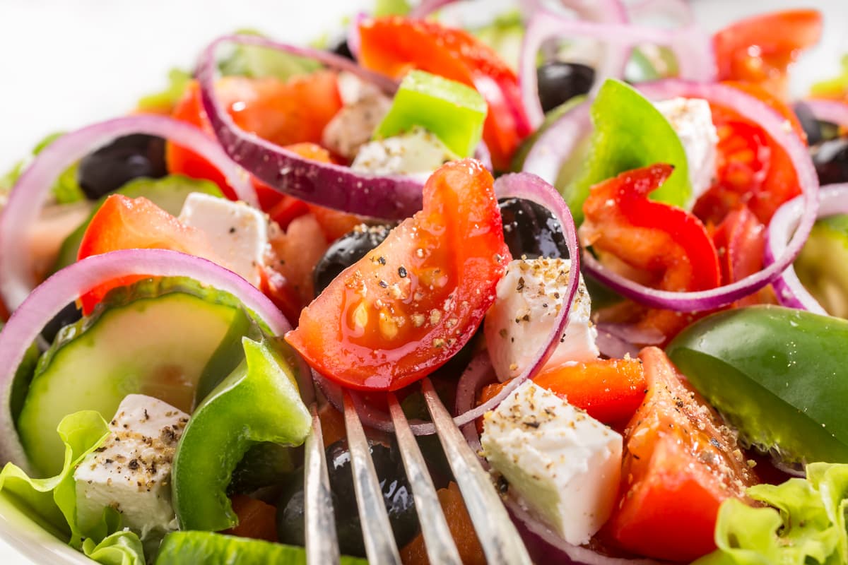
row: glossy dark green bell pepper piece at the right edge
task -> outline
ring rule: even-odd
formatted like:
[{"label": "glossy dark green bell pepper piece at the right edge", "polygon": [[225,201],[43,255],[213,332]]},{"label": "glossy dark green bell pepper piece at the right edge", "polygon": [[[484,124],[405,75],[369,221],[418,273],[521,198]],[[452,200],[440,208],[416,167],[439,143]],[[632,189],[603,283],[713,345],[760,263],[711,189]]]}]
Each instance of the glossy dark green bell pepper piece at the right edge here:
[{"label": "glossy dark green bell pepper piece at the right edge", "polygon": [[848,463],[848,321],[756,306],[701,319],[668,357],[740,438],[786,463]]}]

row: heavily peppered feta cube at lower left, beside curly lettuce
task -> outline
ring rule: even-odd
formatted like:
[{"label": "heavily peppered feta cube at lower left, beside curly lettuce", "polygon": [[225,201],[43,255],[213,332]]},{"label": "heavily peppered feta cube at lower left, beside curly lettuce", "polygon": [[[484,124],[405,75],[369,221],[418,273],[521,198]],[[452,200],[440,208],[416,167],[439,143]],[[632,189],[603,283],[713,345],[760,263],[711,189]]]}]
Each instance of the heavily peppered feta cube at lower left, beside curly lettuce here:
[{"label": "heavily peppered feta cube at lower left, beside curly lettuce", "polygon": [[85,532],[105,507],[146,539],[176,529],[170,466],[188,415],[151,396],[128,395],[109,423],[109,437],[74,472],[76,514]]}]

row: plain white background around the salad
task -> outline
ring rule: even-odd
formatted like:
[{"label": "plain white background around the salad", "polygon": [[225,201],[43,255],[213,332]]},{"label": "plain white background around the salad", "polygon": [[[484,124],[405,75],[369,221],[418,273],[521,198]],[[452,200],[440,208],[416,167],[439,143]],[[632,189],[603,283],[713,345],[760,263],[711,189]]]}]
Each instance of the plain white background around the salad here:
[{"label": "plain white background around the salad", "polygon": [[[477,2],[483,9],[487,2]],[[217,35],[243,27],[286,42],[338,30],[369,0],[0,0],[0,171],[43,136],[126,113],[190,68]],[[711,30],[768,9],[825,14],[823,43],[794,73],[796,94],[839,69],[848,53],[848,0],[693,0]],[[25,562],[0,540],[0,563]]]}]

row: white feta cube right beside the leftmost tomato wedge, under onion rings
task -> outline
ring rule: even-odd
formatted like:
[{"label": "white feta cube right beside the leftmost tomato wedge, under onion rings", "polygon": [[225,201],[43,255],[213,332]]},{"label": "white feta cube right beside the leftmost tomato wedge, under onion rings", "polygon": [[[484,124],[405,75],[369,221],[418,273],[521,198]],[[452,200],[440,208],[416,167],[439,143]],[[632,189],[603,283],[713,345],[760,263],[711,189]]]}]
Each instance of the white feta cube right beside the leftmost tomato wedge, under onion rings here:
[{"label": "white feta cube right beside the leftmost tomato wedge, under onion rings", "polygon": [[224,267],[259,286],[259,265],[268,246],[265,214],[244,202],[192,192],[182,205],[180,220],[209,236]]}]

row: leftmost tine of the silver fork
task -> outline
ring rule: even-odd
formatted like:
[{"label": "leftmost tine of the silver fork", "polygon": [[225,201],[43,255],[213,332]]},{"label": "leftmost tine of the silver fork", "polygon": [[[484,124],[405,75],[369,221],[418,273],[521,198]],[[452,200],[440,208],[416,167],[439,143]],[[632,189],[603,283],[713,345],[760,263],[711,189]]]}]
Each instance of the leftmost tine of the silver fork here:
[{"label": "leftmost tine of the silver fork", "polygon": [[326,565],[339,562],[336,520],[332,513],[330,478],[326,471],[324,438],[321,418],[315,403],[312,413],[312,433],[306,438],[304,467],[304,522],[306,528],[306,562]]}]

